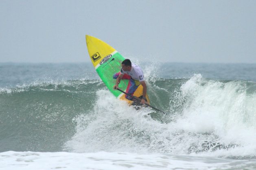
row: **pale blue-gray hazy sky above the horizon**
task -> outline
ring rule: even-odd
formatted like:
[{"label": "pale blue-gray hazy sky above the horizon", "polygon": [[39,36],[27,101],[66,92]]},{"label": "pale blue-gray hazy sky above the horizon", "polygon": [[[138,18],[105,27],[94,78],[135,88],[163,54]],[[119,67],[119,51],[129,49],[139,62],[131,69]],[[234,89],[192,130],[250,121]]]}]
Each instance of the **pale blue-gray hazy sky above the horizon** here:
[{"label": "pale blue-gray hazy sky above the horizon", "polygon": [[85,34],[126,58],[256,63],[255,0],[0,0],[0,62],[90,62]]}]

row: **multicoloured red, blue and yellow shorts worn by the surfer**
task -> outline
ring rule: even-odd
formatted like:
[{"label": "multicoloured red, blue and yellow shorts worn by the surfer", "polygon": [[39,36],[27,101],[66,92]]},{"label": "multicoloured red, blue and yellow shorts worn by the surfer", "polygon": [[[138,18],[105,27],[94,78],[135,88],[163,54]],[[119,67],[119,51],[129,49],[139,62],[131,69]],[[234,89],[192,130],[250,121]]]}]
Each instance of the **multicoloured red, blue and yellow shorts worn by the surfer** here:
[{"label": "multicoloured red, blue and yellow shorts worn by the surfer", "polygon": [[[113,75],[113,79],[117,79],[119,74],[121,74],[121,73],[120,72],[115,73]],[[128,79],[129,80],[128,86],[126,88],[126,93],[128,93],[130,95],[133,95],[133,93],[139,87],[140,81],[132,79],[131,76],[129,76],[128,74],[124,74],[122,79]],[[128,100],[132,100],[132,98],[128,95],[125,95],[125,98],[127,98]]]}]

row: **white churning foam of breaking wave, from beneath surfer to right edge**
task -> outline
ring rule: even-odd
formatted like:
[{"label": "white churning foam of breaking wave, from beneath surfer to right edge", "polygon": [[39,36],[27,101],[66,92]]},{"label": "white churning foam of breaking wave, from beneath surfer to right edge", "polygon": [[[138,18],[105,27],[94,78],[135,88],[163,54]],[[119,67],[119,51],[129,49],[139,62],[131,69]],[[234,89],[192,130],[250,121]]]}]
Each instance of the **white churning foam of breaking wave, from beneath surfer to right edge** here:
[{"label": "white churning foam of breaking wave, from beneath surfer to right edge", "polygon": [[155,119],[161,115],[150,108],[137,111],[99,90],[94,111],[75,119],[77,133],[64,150],[254,157],[256,95],[247,95],[246,88],[240,81],[209,81],[196,74],[181,86],[177,100],[186,102],[181,115],[167,115],[174,119],[169,123]]}]

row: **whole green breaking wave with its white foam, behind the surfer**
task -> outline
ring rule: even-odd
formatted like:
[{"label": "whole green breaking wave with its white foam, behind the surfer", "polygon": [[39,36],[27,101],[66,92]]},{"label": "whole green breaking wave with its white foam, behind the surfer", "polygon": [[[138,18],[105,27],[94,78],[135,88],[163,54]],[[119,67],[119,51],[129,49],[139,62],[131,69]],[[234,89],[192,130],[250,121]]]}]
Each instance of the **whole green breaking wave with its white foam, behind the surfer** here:
[{"label": "whole green breaking wave with its white foam, behind the surfer", "polygon": [[2,151],[256,156],[255,82],[205,79],[201,74],[151,77],[147,82],[151,105],[166,115],[128,106],[100,80],[2,88]]}]

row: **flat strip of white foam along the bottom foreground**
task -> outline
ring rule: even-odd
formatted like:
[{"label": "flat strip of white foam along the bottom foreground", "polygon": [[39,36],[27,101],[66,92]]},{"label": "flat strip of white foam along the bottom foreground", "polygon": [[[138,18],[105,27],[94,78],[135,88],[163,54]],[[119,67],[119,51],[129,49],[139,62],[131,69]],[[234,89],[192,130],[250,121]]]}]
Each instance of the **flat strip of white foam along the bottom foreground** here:
[{"label": "flat strip of white foam along the bottom foreground", "polygon": [[68,153],[14,152],[0,153],[0,169],[93,169],[93,170],[158,170],[158,169],[254,169],[255,159],[234,160],[168,154],[124,152]]}]

